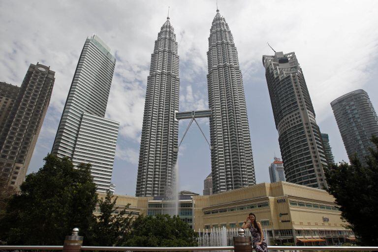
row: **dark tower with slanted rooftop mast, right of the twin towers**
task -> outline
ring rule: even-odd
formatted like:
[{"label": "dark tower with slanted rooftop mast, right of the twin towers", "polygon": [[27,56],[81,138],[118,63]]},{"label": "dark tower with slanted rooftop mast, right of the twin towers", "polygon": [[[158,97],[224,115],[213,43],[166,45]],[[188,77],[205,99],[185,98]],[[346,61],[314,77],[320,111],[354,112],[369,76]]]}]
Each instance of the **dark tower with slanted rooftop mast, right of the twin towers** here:
[{"label": "dark tower with slanted rooftop mast, right of the twin towers", "polygon": [[279,134],[286,181],[326,188],[327,165],[315,111],[302,69],[294,54],[264,55],[266,82]]}]

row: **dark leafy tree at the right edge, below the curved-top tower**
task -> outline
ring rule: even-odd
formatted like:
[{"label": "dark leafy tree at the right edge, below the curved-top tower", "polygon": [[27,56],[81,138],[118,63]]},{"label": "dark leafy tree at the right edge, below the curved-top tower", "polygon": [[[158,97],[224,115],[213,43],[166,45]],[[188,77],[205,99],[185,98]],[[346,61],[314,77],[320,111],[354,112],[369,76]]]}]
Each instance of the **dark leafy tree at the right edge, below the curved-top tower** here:
[{"label": "dark leafy tree at the right edge, below the curved-top tower", "polygon": [[[378,138],[372,137],[378,148]],[[340,205],[342,217],[350,223],[359,243],[365,246],[378,244],[378,151],[370,149],[367,166],[354,156],[351,165],[342,162],[326,170],[328,192]]]}]

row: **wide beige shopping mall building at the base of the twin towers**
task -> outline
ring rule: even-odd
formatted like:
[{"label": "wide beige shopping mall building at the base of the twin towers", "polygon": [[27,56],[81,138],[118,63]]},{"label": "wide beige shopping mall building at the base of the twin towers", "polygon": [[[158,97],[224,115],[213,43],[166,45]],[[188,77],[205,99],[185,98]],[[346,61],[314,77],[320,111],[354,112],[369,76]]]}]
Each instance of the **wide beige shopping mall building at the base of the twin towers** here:
[{"label": "wide beige shopping mall building at the base of the twin towers", "polygon": [[[99,195],[103,197],[103,194]],[[163,197],[117,195],[118,211],[132,215],[170,214],[174,203]],[[239,228],[249,213],[256,215],[270,237],[270,244],[335,245],[355,241],[354,233],[335,198],[327,191],[288,182],[261,183],[212,195],[179,196],[179,216],[197,232]],[[98,207],[95,214],[98,214]]]}]

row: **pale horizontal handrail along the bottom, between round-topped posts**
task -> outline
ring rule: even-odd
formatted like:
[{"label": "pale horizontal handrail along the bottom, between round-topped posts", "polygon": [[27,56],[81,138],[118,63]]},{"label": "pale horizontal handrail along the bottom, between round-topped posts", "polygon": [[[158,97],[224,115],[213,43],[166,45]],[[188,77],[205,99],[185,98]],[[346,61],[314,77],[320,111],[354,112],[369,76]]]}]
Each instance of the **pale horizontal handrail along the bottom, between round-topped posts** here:
[{"label": "pale horizontal handrail along the bottom, between round-topped posts", "polygon": [[[306,250],[306,251],[378,251],[378,247],[339,247],[339,246],[268,246],[269,250]],[[63,246],[0,246],[1,250],[63,250]],[[82,251],[220,251],[234,250],[226,247],[101,247],[82,246]]]}]

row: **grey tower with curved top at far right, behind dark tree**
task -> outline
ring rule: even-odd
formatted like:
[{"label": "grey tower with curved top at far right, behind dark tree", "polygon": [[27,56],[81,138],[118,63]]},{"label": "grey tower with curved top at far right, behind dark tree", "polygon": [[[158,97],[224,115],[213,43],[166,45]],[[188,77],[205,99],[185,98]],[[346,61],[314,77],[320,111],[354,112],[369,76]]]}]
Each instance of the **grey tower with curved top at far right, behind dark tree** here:
[{"label": "grey tower with curved top at far right, behind dark tree", "polygon": [[359,89],[340,96],[331,106],[349,159],[356,153],[366,165],[369,147],[375,148],[370,138],[378,136],[378,118],[369,95]]}]

